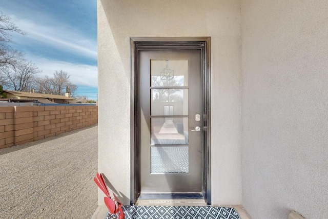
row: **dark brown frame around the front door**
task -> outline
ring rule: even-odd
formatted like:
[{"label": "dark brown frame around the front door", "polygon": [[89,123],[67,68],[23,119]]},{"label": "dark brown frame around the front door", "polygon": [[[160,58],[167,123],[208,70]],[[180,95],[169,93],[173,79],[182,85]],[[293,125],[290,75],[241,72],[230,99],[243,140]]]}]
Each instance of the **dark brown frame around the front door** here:
[{"label": "dark brown frame around the front door", "polygon": [[202,59],[202,142],[203,142],[203,197],[211,205],[211,96],[210,43],[211,37],[131,37],[131,194],[135,204],[139,195],[139,50],[199,49]]}]

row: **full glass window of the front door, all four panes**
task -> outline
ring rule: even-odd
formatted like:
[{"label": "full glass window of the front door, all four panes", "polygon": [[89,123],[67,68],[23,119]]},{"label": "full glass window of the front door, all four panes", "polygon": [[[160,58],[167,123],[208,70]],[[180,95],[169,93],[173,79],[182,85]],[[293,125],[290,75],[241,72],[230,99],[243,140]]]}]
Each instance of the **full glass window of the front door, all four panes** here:
[{"label": "full glass window of the front door, all four panes", "polygon": [[151,173],[188,173],[188,60],[150,64]]}]

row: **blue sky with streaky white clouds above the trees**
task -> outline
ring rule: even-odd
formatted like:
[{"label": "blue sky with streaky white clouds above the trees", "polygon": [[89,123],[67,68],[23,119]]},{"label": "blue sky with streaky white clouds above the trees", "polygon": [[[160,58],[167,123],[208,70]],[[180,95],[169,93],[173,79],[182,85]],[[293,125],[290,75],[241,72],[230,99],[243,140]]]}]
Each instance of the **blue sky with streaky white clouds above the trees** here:
[{"label": "blue sky with streaky white clouds above the trees", "polygon": [[79,95],[97,99],[96,0],[0,0],[0,10],[26,33],[13,34],[12,47],[40,76],[66,71]]}]

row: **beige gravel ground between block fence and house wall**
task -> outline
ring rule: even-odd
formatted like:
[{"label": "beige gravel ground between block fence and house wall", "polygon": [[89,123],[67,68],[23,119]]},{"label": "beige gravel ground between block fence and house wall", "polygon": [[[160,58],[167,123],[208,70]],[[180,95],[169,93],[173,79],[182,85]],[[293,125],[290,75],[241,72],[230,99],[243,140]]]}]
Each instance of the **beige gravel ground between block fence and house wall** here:
[{"label": "beige gravel ground between block fence and house wall", "polygon": [[90,218],[97,126],[0,150],[0,218]]}]

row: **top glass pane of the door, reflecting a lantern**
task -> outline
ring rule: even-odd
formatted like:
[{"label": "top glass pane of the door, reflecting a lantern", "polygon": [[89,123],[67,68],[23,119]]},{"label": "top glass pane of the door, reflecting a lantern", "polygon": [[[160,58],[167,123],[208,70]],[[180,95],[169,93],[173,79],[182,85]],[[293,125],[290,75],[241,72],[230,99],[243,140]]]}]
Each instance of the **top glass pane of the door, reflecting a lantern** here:
[{"label": "top glass pane of the door, reflecting a lantern", "polygon": [[188,60],[150,61],[151,87],[188,86]]}]

